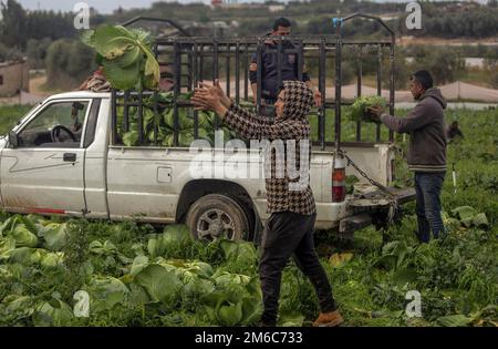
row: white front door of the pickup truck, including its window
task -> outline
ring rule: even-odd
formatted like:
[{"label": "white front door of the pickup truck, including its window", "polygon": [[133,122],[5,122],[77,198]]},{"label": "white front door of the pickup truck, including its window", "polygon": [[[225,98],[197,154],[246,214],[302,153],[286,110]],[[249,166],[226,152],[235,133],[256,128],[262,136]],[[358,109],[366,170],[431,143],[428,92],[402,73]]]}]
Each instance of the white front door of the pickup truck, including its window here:
[{"label": "white front door of the pickup truck, including its window", "polygon": [[82,134],[91,105],[92,100],[54,100],[17,130],[18,145],[6,147],[0,163],[7,211],[85,213]]}]

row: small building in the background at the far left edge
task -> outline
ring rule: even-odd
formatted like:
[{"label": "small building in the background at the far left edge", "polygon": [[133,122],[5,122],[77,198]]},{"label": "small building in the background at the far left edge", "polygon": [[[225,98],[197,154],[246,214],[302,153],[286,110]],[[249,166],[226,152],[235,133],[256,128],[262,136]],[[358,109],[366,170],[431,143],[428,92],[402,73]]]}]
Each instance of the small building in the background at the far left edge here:
[{"label": "small building in the background at the far left edge", "polygon": [[28,62],[0,62],[0,97],[9,97],[30,90],[30,70]]}]

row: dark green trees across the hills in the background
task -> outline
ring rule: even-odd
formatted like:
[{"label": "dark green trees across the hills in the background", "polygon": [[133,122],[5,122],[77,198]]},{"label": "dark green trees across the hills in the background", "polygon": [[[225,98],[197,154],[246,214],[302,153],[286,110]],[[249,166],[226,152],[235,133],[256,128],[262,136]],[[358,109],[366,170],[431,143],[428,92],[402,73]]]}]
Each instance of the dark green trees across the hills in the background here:
[{"label": "dark green trees across the hills in the background", "polygon": [[[258,35],[271,30],[272,18],[284,16],[291,19],[292,30],[298,33],[323,34],[333,33],[331,17],[357,11],[366,13],[403,13],[388,23],[398,35],[415,34],[418,37],[443,38],[485,38],[498,35],[498,6],[491,0],[484,6],[455,4],[450,2],[422,2],[423,29],[407,31],[403,3],[375,3],[369,1],[314,0],[311,2],[289,2],[282,12],[271,13],[268,8],[257,9],[219,9],[205,4],[179,4],[156,2],[149,9],[124,10],[117,9],[108,16],[92,11],[91,25],[100,23],[120,23],[136,16],[149,16],[175,19],[189,23],[201,23],[214,20],[231,22],[237,20],[238,28],[234,32],[238,35]],[[59,88],[76,85],[94,68],[93,52],[79,40],[80,32],[73,25],[73,14],[54,11],[27,11],[15,0],[7,0],[0,6],[0,61],[28,57],[34,69],[46,69],[49,82]],[[353,20],[343,27],[345,37],[364,35],[382,37],[385,31],[375,21]],[[403,88],[407,79],[407,71],[416,65],[424,65],[435,72],[438,83],[457,79],[465,70],[464,57],[485,57],[490,76],[498,75],[496,60],[498,49],[487,47],[474,48],[400,48],[396,59],[396,85]],[[409,64],[404,57],[412,57]],[[489,63],[489,64],[488,64]],[[376,58],[366,59],[363,70],[365,74],[376,71]],[[315,66],[308,64],[313,72]],[[343,64],[343,80],[354,80],[355,64],[346,61]],[[498,86],[498,76],[491,78]]]}]

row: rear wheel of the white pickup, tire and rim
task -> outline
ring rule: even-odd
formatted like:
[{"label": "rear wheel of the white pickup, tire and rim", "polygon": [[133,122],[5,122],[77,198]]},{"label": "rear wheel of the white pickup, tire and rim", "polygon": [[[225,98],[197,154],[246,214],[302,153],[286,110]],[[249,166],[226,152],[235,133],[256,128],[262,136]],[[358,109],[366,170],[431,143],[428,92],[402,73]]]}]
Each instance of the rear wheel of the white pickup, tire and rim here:
[{"label": "rear wheel of the white pickup, tire and rim", "polygon": [[186,223],[195,239],[231,240],[249,236],[249,219],[243,208],[231,197],[209,194],[197,199],[188,209]]}]

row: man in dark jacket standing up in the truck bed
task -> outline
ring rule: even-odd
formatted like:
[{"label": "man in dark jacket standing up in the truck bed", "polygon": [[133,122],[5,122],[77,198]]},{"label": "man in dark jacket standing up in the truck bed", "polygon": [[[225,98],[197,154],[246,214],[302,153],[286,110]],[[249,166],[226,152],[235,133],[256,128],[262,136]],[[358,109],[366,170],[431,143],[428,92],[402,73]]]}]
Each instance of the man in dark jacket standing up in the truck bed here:
[{"label": "man in dark jacket standing up in the truck bed", "polygon": [[[277,52],[268,52],[269,50],[277,50],[278,41],[272,40],[271,37],[287,37],[290,35],[291,23],[287,18],[279,18],[273,23],[273,31],[266,37],[269,39],[264,41],[261,48],[261,113],[266,116],[274,116],[273,105],[278,97],[278,54]],[[295,49],[290,41],[282,41],[282,49]],[[283,53],[281,60],[281,76],[283,80],[298,80],[298,53]],[[251,58],[251,64],[249,65],[249,80],[251,82],[252,95],[255,97],[255,104],[258,102],[258,64],[256,53]],[[322,95],[318,89],[313,89],[313,83],[308,75],[305,65],[303,65],[302,81],[313,90],[314,103],[317,106],[322,103]]]}]

